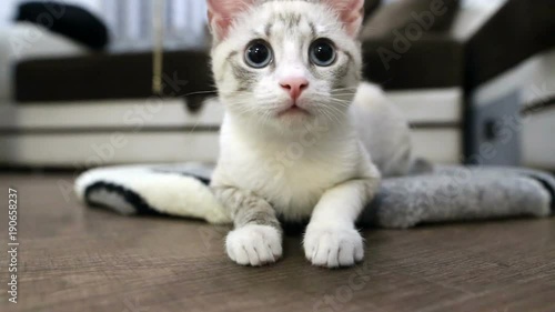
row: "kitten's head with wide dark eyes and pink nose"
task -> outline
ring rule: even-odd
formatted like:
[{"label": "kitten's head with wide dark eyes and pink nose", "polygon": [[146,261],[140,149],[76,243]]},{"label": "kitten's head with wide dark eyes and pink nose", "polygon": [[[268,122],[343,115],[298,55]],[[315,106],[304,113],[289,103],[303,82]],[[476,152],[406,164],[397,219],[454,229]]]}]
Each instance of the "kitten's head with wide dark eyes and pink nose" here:
[{"label": "kitten's head with wide dark eyes and pink nose", "polygon": [[361,79],[364,0],[208,0],[228,111],[272,127],[342,120]]}]

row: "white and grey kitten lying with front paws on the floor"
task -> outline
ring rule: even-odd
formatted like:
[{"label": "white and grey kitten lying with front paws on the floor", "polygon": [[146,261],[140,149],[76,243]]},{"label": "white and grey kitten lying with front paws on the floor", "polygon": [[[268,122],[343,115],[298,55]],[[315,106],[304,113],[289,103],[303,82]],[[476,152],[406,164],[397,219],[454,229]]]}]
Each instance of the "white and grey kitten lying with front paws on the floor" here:
[{"label": "white and grey kitten lying with front paws on the floor", "polygon": [[[212,188],[234,220],[229,256],[282,256],[279,219],[309,220],[306,258],[364,256],[355,221],[385,174],[408,170],[405,122],[361,81],[364,0],[208,0],[212,69],[226,109]],[[361,134],[359,134],[361,133]]]}]

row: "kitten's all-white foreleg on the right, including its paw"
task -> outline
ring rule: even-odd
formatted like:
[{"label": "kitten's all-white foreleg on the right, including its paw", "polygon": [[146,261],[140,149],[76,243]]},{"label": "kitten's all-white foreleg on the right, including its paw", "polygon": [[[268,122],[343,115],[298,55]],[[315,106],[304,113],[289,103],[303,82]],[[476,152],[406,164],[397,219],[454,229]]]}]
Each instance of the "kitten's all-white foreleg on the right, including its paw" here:
[{"label": "kitten's all-white foreleg on the right, including its paw", "polygon": [[326,191],[304,234],[304,252],[314,265],[350,266],[364,258],[354,223],[377,189],[377,179],[351,180]]}]

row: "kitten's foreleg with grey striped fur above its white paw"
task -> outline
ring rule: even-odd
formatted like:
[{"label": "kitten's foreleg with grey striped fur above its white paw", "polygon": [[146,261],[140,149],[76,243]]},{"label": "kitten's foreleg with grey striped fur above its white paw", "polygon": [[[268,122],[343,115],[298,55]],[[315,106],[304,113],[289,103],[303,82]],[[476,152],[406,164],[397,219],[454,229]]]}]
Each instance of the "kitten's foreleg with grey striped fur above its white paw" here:
[{"label": "kitten's foreleg with grey striped fur above its white paw", "polygon": [[225,239],[231,260],[260,266],[282,256],[282,229],[275,211],[252,192],[236,188],[213,188],[215,195],[233,218],[234,230]]}]

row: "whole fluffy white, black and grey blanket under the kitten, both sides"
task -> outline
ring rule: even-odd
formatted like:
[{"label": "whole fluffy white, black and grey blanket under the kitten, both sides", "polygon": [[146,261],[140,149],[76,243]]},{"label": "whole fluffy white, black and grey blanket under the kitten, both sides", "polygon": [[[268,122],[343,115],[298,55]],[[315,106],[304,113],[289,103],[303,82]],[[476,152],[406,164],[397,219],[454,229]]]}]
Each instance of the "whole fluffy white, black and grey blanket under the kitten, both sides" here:
[{"label": "whole fluffy white, black and grey blanket under the kitten, both sides", "polygon": [[[107,167],[75,181],[89,207],[118,213],[167,214],[231,223],[209,184],[213,168],[198,163]],[[555,178],[536,170],[441,167],[418,175],[387,178],[361,213],[361,227],[407,229],[422,223],[545,218],[554,213]]]}]

